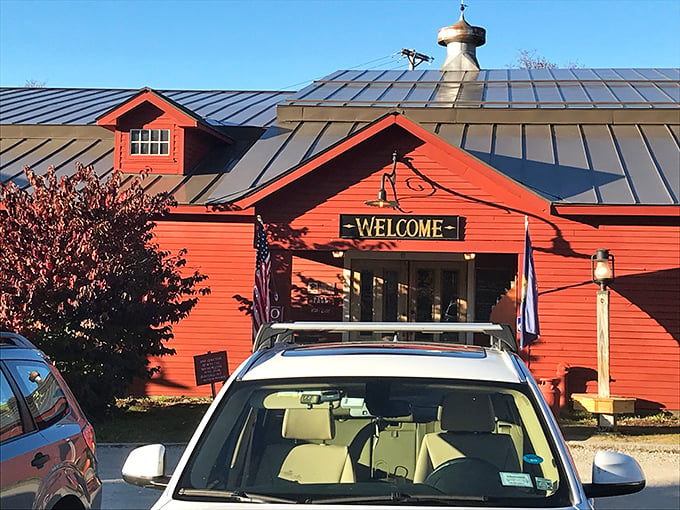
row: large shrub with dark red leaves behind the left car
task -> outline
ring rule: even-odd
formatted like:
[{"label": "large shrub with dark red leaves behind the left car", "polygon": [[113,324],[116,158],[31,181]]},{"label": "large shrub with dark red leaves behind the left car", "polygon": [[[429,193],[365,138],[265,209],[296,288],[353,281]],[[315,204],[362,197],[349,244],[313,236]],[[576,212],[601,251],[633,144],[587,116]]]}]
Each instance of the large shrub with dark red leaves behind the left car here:
[{"label": "large shrub with dark red leaves behind the left car", "polygon": [[174,354],[172,325],[207,276],[187,270],[186,250],[159,249],[154,220],[175,202],[146,194],[143,176],[24,173],[25,189],[0,183],[0,329],[36,343],[99,414],[157,370],[149,356]]}]

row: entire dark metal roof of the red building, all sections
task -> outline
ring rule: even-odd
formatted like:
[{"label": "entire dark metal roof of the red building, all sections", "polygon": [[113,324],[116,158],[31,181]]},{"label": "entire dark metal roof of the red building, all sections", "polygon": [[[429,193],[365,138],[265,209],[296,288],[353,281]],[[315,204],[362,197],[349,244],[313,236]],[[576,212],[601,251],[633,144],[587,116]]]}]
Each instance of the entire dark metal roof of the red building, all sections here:
[{"label": "entire dark metal roof of the red building, all sections", "polygon": [[[0,89],[0,181],[25,185],[24,165],[111,172],[113,134],[95,119],[138,92]],[[235,142],[145,181],[181,204],[242,198],[394,108],[549,201],[679,203],[679,69],[338,71],[294,94],[158,92]]]}]

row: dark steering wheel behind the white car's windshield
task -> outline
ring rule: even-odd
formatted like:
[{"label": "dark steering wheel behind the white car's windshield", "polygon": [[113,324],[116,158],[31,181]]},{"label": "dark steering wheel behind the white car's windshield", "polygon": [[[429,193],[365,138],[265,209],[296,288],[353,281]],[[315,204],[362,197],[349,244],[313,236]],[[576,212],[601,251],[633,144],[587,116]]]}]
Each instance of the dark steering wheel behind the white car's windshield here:
[{"label": "dark steering wheel behind the white car's windshield", "polygon": [[500,469],[479,457],[447,460],[430,473],[423,483],[445,494],[491,495],[503,490]]}]

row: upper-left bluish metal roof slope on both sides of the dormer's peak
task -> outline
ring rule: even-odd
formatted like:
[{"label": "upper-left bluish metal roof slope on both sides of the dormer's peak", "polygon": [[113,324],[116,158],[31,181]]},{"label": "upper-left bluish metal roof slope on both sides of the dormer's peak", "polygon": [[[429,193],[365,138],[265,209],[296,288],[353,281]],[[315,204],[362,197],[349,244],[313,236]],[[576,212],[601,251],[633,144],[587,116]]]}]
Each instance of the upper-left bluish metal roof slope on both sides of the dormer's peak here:
[{"label": "upper-left bluish metal roof slope on both sides of the dormer's peak", "polygon": [[[158,90],[214,126],[264,127],[291,92]],[[132,89],[0,89],[0,124],[95,125],[139,93]]]}]

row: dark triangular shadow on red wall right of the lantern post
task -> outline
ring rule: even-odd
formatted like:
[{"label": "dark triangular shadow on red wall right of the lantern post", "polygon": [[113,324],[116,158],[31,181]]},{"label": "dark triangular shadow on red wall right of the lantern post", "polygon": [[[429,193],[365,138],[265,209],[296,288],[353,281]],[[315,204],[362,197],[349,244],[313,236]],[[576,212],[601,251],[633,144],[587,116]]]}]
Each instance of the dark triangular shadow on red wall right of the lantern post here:
[{"label": "dark triangular shadow on red wall right of the lantern post", "polygon": [[680,344],[680,268],[617,276],[610,287],[656,320]]}]

